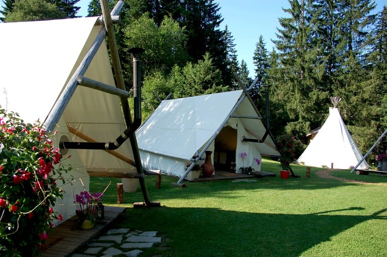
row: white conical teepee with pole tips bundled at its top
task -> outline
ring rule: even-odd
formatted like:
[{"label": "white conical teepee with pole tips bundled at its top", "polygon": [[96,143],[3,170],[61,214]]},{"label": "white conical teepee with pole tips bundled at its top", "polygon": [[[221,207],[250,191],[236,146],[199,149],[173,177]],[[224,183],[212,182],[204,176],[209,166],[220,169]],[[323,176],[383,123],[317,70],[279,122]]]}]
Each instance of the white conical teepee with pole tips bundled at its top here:
[{"label": "white conical teepee with pole tips bundled at its top", "polygon": [[[297,162],[315,167],[349,169],[355,166],[363,155],[353,141],[337,109],[341,98],[331,97],[331,101],[334,107],[329,108],[328,119]],[[364,169],[367,166],[364,160],[360,163],[359,168]]]}]

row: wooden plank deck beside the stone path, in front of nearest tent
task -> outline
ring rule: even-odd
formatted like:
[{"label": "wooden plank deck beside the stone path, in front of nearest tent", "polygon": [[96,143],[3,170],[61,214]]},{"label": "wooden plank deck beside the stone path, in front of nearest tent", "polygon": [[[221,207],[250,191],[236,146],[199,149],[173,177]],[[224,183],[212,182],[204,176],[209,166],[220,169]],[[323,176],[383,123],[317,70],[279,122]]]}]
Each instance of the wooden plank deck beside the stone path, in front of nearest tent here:
[{"label": "wooden plank deck beside the stone path, in front of nearest tent", "polygon": [[97,220],[95,226],[90,229],[74,229],[77,216],[64,221],[48,234],[48,249],[43,251],[42,257],[69,256],[91,238],[105,231],[107,226],[124,212],[125,208],[122,207],[105,206],[105,219]]}]

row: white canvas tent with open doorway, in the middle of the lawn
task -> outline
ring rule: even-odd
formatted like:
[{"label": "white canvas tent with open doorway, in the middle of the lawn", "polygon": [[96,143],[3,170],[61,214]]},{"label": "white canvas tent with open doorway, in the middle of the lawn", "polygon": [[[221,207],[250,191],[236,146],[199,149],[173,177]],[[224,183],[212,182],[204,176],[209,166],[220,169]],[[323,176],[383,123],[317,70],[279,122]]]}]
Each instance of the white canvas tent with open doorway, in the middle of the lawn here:
[{"label": "white canvas tent with open doorway, in the middle of the lawn", "polygon": [[[136,131],[143,166],[181,177],[191,158],[207,147],[213,151],[213,163],[214,155],[216,163],[233,154],[237,170],[243,162],[250,166],[254,157],[261,159],[261,154],[279,156],[270,136],[263,143],[242,141],[244,137],[262,139],[265,134],[264,124],[256,117],[260,114],[241,90],[164,100]],[[244,160],[242,152],[248,154]],[[261,170],[261,165],[252,167]]]}]

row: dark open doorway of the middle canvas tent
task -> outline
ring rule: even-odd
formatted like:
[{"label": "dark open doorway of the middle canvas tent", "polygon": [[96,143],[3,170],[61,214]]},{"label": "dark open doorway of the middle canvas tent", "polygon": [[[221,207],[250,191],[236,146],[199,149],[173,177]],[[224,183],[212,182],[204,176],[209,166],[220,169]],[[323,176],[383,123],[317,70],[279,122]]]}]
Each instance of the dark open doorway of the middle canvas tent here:
[{"label": "dark open doorway of the middle canvas tent", "polygon": [[235,172],[237,130],[224,127],[215,138],[214,166],[216,170]]}]

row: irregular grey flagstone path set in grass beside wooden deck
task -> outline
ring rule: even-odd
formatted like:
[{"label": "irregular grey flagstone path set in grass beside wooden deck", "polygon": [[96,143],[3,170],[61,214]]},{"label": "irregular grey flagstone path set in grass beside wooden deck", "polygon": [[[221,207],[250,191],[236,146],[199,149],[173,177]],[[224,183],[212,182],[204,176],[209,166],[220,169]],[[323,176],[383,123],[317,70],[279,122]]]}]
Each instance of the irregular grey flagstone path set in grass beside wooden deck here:
[{"label": "irregular grey flagstone path set in grass beside wooden deck", "polygon": [[113,257],[137,256],[145,248],[161,243],[161,237],[156,237],[157,231],[130,231],[128,228],[110,229],[92,241],[86,247],[73,253],[70,257]]}]

